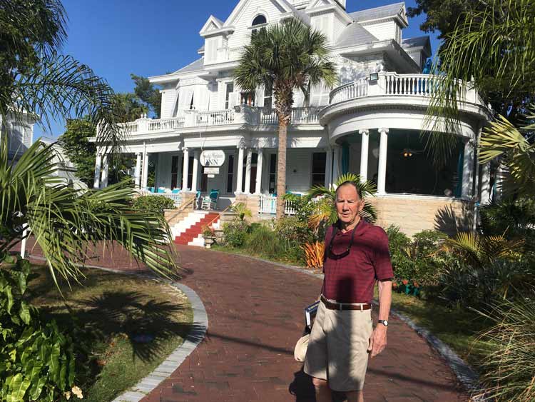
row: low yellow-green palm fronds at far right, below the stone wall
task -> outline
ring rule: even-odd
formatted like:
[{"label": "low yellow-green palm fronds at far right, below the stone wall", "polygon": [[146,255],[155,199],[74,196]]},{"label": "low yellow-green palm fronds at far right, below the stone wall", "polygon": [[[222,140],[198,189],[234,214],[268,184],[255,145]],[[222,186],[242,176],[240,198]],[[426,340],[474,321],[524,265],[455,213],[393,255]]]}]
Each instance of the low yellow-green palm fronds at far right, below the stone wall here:
[{"label": "low yellow-green palm fronds at far right, below the stone wall", "polygon": [[456,253],[473,268],[485,268],[498,259],[517,260],[524,251],[523,240],[507,240],[504,236],[481,236],[472,232],[457,233],[447,238],[442,251]]}]

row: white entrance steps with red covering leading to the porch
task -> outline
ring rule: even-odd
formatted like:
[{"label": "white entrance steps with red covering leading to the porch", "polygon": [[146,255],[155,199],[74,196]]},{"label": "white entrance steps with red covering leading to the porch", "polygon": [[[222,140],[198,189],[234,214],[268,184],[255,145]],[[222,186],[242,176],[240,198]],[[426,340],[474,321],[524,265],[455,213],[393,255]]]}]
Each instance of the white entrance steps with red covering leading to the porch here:
[{"label": "white entrance steps with red covering leading to the porch", "polygon": [[182,221],[176,223],[171,227],[171,233],[175,238],[176,244],[184,244],[186,246],[204,247],[205,241],[203,238],[203,226],[212,222],[215,226],[219,222],[219,213],[208,211],[195,211],[188,213]]}]

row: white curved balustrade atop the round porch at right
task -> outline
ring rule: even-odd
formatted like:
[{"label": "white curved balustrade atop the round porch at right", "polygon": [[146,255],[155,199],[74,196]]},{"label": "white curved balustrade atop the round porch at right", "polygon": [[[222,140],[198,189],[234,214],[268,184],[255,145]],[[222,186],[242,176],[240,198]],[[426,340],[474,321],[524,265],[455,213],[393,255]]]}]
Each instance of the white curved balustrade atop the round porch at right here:
[{"label": "white curved balustrade atop the round porch at right", "polygon": [[[377,81],[368,78],[359,79],[335,88],[329,96],[329,104],[337,104],[342,101],[359,99],[365,96],[418,96],[429,98],[439,85],[441,80],[437,76],[429,74],[396,74],[379,73]],[[467,83],[459,82],[459,101],[481,104],[477,91]]]}]

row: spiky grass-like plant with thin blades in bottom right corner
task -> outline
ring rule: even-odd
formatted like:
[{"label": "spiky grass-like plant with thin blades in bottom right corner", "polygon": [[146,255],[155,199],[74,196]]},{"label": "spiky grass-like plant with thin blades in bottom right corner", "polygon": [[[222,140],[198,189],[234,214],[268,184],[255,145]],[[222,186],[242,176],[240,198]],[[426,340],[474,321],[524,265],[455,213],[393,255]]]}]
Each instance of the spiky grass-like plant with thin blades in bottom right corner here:
[{"label": "spiky grass-like plant with thin blades in bottom right corner", "polygon": [[[535,294],[531,288],[528,294]],[[481,315],[494,323],[480,334],[489,352],[481,364],[485,399],[535,400],[535,298],[519,293],[514,301],[493,303]]]}]

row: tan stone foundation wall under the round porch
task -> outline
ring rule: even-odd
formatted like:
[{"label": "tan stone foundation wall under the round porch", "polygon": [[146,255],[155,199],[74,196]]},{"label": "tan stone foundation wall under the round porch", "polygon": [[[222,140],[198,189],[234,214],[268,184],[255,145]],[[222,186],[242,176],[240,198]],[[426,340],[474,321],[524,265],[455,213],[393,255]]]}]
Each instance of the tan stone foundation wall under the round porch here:
[{"label": "tan stone foundation wall under the round porch", "polygon": [[377,208],[377,225],[399,226],[408,236],[433,229],[452,235],[471,230],[474,224],[474,203],[469,201],[392,195],[370,197],[370,201]]}]

